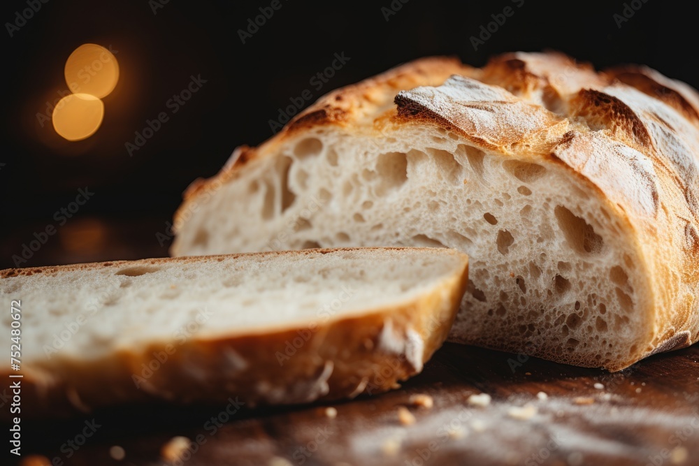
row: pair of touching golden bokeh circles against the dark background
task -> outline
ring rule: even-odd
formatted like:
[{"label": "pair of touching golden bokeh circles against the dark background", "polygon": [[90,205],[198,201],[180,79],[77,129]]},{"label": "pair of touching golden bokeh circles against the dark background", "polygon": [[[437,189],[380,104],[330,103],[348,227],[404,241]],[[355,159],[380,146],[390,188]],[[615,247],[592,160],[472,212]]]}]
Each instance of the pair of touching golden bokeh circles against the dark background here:
[{"label": "pair of touching golden bokeh circles against the dark background", "polygon": [[67,140],[92,136],[102,124],[101,98],[113,91],[119,80],[119,64],[114,54],[101,45],[84,44],[66,60],[66,84],[73,92],[56,104],[53,127]]}]

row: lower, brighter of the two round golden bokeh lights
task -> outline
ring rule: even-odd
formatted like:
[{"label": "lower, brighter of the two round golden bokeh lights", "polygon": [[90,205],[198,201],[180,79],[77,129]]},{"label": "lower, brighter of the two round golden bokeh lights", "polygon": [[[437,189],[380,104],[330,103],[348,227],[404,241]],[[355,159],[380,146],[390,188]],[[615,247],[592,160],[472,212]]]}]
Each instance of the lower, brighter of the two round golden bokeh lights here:
[{"label": "lower, brighter of the two round golden bokeh lights", "polygon": [[67,140],[81,140],[92,136],[104,117],[104,104],[90,94],[65,96],[53,110],[53,127]]}]

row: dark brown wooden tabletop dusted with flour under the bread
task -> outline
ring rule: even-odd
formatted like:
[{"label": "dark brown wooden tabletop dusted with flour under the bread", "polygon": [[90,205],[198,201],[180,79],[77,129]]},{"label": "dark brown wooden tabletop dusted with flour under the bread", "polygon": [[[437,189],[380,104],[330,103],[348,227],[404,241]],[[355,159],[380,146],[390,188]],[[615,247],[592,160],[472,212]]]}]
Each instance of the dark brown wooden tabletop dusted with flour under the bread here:
[{"label": "dark brown wooden tabletop dusted with flour under the bread", "polygon": [[[489,405],[468,401],[478,393]],[[433,407],[410,405],[415,394]],[[445,344],[389,393],[273,409],[241,402],[22,421],[22,453],[55,465],[699,465],[699,345],[612,374]],[[401,407],[415,423],[401,423]],[[67,442],[85,429],[92,436],[73,449]],[[162,446],[175,436],[192,444],[166,462]]]}]

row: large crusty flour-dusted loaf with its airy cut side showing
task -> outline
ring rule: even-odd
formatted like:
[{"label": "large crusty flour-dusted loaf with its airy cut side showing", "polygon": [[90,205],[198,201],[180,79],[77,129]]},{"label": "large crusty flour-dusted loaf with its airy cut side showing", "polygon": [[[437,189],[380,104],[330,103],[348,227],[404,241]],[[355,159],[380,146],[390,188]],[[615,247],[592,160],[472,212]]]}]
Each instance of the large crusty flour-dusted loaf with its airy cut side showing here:
[{"label": "large crusty flour-dusted loaf with its airy cut side showing", "polygon": [[443,245],[471,259],[452,340],[609,370],[698,341],[696,91],[555,53],[445,64],[236,150],[185,194],[172,253]]}]

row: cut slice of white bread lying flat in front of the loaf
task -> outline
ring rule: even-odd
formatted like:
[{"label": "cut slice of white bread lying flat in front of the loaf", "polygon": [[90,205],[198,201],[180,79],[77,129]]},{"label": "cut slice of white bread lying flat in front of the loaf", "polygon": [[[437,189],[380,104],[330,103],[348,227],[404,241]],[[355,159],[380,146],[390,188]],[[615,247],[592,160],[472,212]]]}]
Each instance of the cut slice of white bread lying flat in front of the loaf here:
[{"label": "cut slice of white bread lying flat in front of the loaf", "polygon": [[3,341],[19,307],[22,415],[352,398],[421,371],[467,269],[454,250],[366,248],[3,270]]}]

